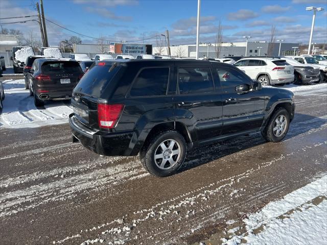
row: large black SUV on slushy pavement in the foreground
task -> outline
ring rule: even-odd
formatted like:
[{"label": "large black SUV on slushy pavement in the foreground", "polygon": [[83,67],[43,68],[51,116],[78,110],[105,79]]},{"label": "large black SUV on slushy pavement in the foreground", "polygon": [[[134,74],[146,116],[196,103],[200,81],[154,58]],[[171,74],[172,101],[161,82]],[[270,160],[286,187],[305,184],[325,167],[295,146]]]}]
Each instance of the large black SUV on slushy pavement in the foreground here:
[{"label": "large black SUV on slushy pavement in the foreground", "polygon": [[186,149],[251,132],[282,140],[293,93],[262,88],[237,67],[205,60],[96,62],[73,91],[73,142],[135,156],[156,176],[176,173]]}]

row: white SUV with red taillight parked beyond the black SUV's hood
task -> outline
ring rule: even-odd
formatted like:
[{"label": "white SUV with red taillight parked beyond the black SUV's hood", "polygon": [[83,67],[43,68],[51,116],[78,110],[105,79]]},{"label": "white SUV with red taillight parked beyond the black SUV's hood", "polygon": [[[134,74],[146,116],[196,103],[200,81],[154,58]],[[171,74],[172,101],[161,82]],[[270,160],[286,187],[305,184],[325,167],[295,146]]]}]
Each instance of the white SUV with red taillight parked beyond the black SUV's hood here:
[{"label": "white SUV with red taillight parked beyond the black SUV's hood", "polygon": [[294,67],[278,58],[243,58],[234,64],[263,85],[285,85],[294,80]]}]

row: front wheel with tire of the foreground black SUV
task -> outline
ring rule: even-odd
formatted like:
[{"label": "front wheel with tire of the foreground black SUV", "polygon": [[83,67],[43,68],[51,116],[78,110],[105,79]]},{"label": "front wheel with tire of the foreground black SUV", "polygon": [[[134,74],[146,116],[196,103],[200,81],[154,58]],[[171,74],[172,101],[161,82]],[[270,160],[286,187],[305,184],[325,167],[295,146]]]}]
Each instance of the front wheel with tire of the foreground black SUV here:
[{"label": "front wheel with tire of the foreground black SUV", "polygon": [[279,142],[286,136],[290,127],[290,115],[284,108],[278,108],[270,117],[269,122],[262,132],[268,142]]}]

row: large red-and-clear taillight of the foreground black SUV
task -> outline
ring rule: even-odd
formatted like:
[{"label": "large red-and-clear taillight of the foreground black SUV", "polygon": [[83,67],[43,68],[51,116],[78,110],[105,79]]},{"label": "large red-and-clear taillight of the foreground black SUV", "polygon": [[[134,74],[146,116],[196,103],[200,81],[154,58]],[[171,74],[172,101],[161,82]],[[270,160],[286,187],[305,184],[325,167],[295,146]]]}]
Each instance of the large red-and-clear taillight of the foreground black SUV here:
[{"label": "large red-and-clear taillight of the foreground black SUV", "polygon": [[124,104],[98,104],[98,124],[100,128],[112,129],[115,127]]}]

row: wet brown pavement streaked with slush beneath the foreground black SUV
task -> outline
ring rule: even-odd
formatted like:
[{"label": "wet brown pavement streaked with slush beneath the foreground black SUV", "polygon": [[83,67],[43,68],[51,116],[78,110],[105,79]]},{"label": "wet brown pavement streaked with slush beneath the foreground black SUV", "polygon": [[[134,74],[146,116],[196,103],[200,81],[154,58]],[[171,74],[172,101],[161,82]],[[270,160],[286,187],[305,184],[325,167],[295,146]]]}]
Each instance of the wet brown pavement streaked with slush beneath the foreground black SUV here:
[{"label": "wet brown pavement streaked with slush beneath the foreground black SUV", "polygon": [[168,178],[137,157],[71,143],[67,124],[0,129],[0,243],[192,244],[218,234],[327,172],[327,91],[294,93],[285,140],[251,134],[192,149]]}]

